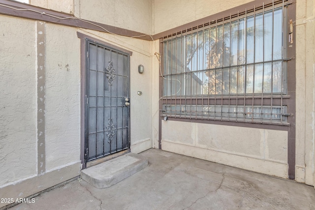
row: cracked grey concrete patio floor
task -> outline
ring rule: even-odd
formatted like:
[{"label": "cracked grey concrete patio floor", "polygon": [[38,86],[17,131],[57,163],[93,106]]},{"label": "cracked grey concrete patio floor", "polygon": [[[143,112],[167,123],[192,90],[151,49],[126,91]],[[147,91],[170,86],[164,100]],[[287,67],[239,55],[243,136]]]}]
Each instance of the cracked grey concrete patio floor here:
[{"label": "cracked grey concrete patio floor", "polygon": [[315,210],[312,186],[151,149],[150,165],[109,188],[74,180],[10,210]]}]

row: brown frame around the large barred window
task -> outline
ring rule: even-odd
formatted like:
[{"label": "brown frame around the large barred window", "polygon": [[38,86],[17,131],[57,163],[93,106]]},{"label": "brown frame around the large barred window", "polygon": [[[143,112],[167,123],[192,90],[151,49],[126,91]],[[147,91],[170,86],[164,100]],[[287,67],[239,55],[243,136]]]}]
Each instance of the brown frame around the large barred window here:
[{"label": "brown frame around the large barred window", "polygon": [[[248,9],[248,7],[246,5],[248,4],[244,4],[241,7],[243,8],[244,12],[242,13],[237,13],[234,15],[231,15],[231,13],[229,13],[227,16],[222,17],[221,13],[216,14],[211,16],[211,19],[209,18],[208,20],[217,20],[216,23],[214,22],[209,22],[207,24],[203,23],[202,25],[197,25],[195,27],[193,27],[193,25],[191,25],[192,27],[188,28],[186,27],[186,30],[182,27],[182,30],[180,30],[180,32],[176,32],[175,33],[170,33],[170,35],[166,35],[163,38],[160,38],[160,55],[161,56],[161,66],[160,66],[160,74],[162,74],[162,72],[164,72],[164,68],[163,68],[163,53],[165,53],[163,50],[164,46],[163,46],[163,42],[165,40],[174,40],[175,38],[179,37],[183,37],[184,35],[187,34],[193,34],[196,31],[200,31],[200,30],[204,30],[204,29],[210,29],[211,25],[216,24],[217,27],[217,23],[220,21],[220,24],[224,26],[225,23],[231,23],[232,21],[235,20],[240,20],[244,17],[251,17],[251,16],[255,16],[255,14],[259,14],[259,12],[264,12],[265,8],[269,8],[269,10],[267,10],[266,12],[270,11],[270,8],[272,9],[272,12],[274,13],[275,10],[277,10],[278,8],[283,9],[283,14],[285,17],[283,17],[283,29],[284,29],[284,34],[287,34],[287,27],[285,27],[285,20],[288,19],[287,16],[287,5],[291,4],[291,2],[288,2],[287,0],[278,0],[278,1],[272,1],[269,4],[263,4],[262,2],[260,6],[256,6],[257,1],[254,2],[255,4],[253,4],[253,8],[252,9]],[[233,8],[234,11],[237,11],[236,8]],[[242,11],[242,10],[241,10]],[[222,12],[222,13],[227,13],[226,11]],[[218,20],[218,17],[222,17],[220,20]],[[185,27],[185,26],[184,26]],[[168,33],[169,34],[169,33]],[[287,43],[285,41],[286,36],[284,36],[284,43]],[[291,60],[291,58],[288,57],[288,44],[284,44],[284,49],[283,52],[286,52],[286,55],[284,53],[283,55],[283,59],[281,59],[282,63],[284,65],[287,65],[287,61]],[[276,60],[272,60],[269,62],[274,62]],[[255,63],[254,63],[255,64]],[[244,65],[245,66],[245,65]],[[284,68],[287,69],[287,71],[283,72],[283,77],[288,77],[288,67],[284,66]],[[197,71],[205,71],[205,69],[197,69]],[[294,70],[295,71],[295,70]],[[192,75],[192,73],[191,73]],[[161,94],[160,94],[160,111],[161,111],[161,117],[167,117],[170,119],[189,119],[189,120],[221,120],[221,121],[232,121],[232,122],[251,122],[251,123],[259,123],[259,124],[273,124],[273,125],[290,125],[290,122],[288,120],[288,116],[290,116],[292,113],[289,113],[290,109],[287,109],[287,105],[290,104],[292,102],[292,99],[295,100],[294,98],[291,98],[291,94],[288,92],[288,79],[285,83],[285,87],[284,87],[284,91],[281,92],[277,92],[277,93],[254,93],[254,91],[252,91],[252,93],[243,93],[243,94],[181,94],[181,95],[177,95],[177,94],[169,94],[165,96],[165,93],[163,93],[164,91],[164,87],[163,87],[163,82],[165,81],[165,77],[164,76],[171,76],[171,78],[173,78],[174,74],[168,74],[168,75],[160,75],[160,87],[161,88]],[[176,74],[175,74],[176,76]],[[177,77],[175,77],[175,79],[169,79],[169,80],[177,80],[179,81],[179,79],[177,79]],[[294,85],[295,88],[295,85]],[[246,89],[246,87],[245,87]],[[186,115],[183,113],[183,115],[181,113],[172,113],[172,112],[167,112],[167,110],[165,110],[165,105],[170,105],[170,106],[179,106],[179,107],[183,107],[183,105],[190,105],[190,109],[192,106],[196,106],[196,110],[194,112],[194,114],[190,113],[189,115]],[[218,105],[218,106],[224,106],[224,105],[228,105],[228,106],[243,106],[244,107],[244,112],[246,113],[246,106],[252,106],[252,110],[254,109],[254,106],[257,105],[261,105],[261,108],[264,108],[263,106],[280,106],[280,110],[287,110],[287,112],[284,112],[282,114],[282,117],[280,118],[280,120],[273,120],[272,117],[270,118],[270,120],[265,120],[263,118],[261,118],[260,120],[255,119],[254,117],[252,118],[248,118],[247,116],[245,116],[246,114],[244,114],[243,116],[243,120],[242,119],[235,119],[235,118],[224,118],[222,117],[221,114],[219,114],[218,116],[214,116],[214,117],[210,117],[209,118],[209,114],[208,116],[204,116],[204,115],[198,115],[197,114],[197,106],[203,106],[203,105]],[[207,108],[207,107],[206,107]],[[273,109],[271,109],[273,110]],[[251,113],[249,113],[251,114]],[[272,114],[272,113],[271,113]],[[207,114],[206,114],[207,115]],[[236,113],[237,115],[237,113]],[[253,116],[253,115],[252,115]],[[271,115],[272,116],[272,115]]]}]

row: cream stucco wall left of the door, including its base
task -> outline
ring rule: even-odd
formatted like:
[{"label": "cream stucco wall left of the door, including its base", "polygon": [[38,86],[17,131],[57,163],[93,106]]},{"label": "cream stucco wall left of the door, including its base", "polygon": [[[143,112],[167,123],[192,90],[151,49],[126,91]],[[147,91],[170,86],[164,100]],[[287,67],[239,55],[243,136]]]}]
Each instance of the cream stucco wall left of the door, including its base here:
[{"label": "cream stucco wall left of the door, including its base", "polygon": [[[45,30],[37,31],[38,24]],[[20,198],[80,173],[80,41],[70,27],[7,16],[0,16],[0,25],[0,197]],[[47,41],[37,43],[37,33]],[[39,57],[45,58],[44,98],[37,92]],[[46,105],[40,121],[38,100]],[[46,126],[40,172],[39,124]]]}]

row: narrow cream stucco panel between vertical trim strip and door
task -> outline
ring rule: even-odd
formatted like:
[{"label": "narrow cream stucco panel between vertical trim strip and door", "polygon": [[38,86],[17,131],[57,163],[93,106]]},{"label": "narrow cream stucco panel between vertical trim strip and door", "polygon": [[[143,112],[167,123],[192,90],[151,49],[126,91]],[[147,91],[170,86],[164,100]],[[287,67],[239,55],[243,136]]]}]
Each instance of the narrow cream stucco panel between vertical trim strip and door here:
[{"label": "narrow cream stucco panel between vertical trim strip and door", "polygon": [[80,160],[80,39],[46,23],[46,170]]}]

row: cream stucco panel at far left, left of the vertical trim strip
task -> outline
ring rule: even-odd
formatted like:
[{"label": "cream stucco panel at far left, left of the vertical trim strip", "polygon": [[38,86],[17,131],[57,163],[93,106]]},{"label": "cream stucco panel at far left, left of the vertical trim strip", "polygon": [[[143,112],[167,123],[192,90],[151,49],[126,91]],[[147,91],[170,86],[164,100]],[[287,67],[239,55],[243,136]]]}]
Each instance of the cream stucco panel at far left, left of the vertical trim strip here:
[{"label": "cream stucco panel at far left, left of the vertical trim strip", "polygon": [[37,174],[35,23],[0,16],[0,185]]}]

